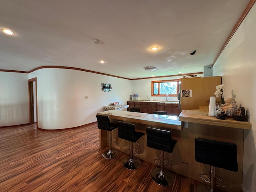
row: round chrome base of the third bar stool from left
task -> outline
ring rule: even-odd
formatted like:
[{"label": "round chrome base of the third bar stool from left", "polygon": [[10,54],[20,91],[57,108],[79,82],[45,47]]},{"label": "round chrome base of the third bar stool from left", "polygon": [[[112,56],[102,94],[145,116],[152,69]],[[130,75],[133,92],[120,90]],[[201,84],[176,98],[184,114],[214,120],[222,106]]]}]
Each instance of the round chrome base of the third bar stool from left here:
[{"label": "round chrome base of the third bar stool from left", "polygon": [[174,176],[168,171],[162,171],[161,168],[155,168],[151,172],[152,180],[161,186],[170,186],[174,183]]}]

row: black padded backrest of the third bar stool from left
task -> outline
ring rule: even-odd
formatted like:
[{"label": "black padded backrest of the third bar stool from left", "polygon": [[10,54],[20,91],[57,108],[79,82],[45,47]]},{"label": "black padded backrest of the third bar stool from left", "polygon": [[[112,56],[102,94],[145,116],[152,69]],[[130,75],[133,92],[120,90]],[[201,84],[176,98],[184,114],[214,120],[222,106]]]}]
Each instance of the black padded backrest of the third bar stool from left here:
[{"label": "black padded backrest of the third bar stool from left", "polygon": [[172,153],[177,141],[172,140],[170,131],[148,127],[146,133],[148,147]]}]

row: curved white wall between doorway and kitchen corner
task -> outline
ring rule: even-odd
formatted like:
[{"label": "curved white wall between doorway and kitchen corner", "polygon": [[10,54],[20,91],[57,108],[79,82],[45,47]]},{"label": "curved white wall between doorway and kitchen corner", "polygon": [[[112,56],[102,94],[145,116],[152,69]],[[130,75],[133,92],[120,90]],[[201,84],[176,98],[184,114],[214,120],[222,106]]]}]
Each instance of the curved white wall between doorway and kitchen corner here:
[{"label": "curved white wall between doorway and kitchen corner", "polygon": [[[131,80],[58,68],[36,70],[29,74],[29,78],[34,77],[37,78],[37,122],[42,129],[96,122],[96,114],[103,111],[103,106],[112,102],[126,104],[130,99]],[[102,91],[101,83],[111,84],[112,91]]]}]

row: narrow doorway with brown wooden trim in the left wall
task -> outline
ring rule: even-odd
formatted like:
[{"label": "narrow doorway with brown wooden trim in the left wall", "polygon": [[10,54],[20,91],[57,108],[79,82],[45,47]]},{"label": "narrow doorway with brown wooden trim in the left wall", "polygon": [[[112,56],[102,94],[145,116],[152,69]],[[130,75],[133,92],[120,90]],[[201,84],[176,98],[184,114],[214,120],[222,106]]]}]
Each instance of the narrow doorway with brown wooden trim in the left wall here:
[{"label": "narrow doorway with brown wooden trim in the left wall", "polygon": [[28,95],[29,95],[29,123],[37,124],[37,88],[36,88],[36,78],[28,80]]}]

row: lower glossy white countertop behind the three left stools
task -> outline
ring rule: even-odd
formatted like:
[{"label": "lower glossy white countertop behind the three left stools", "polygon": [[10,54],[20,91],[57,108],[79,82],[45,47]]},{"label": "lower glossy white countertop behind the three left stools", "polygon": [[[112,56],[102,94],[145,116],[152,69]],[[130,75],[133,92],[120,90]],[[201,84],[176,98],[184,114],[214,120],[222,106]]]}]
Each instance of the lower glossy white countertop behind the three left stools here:
[{"label": "lower glossy white countertop behind the three left stools", "polygon": [[100,115],[108,115],[110,119],[129,121],[134,123],[159,126],[169,129],[181,130],[181,122],[177,116],[138,113],[130,111],[109,110],[98,112]]}]

